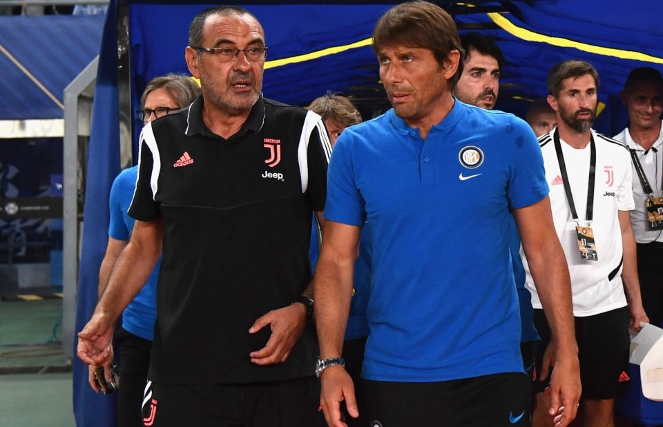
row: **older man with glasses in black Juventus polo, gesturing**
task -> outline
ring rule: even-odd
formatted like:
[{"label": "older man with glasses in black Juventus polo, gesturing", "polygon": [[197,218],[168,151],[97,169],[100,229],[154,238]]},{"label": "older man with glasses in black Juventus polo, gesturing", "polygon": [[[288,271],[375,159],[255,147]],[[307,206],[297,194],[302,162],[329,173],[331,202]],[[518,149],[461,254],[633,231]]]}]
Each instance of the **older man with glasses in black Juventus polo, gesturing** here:
[{"label": "older man with glasses in black Juventus polo, gesturing", "polygon": [[142,132],[136,225],[78,354],[104,359],[163,249],[145,425],[324,425],[307,286],[331,144],[316,113],[262,97],[266,52],[247,10],[200,12],[185,57],[202,96]]}]

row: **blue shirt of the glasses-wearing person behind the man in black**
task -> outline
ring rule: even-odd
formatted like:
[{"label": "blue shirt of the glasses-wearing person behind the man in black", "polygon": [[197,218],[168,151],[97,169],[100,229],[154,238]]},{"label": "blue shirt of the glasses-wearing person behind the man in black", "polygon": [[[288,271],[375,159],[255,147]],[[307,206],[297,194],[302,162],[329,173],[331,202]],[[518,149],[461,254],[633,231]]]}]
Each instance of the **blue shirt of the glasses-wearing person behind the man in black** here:
[{"label": "blue shirt of the glasses-wearing person behind the man in black", "polygon": [[[133,166],[119,172],[113,181],[110,197],[111,223],[108,226],[108,235],[113,239],[124,241],[131,239],[135,219],[130,217],[127,211],[136,187],[137,176],[138,166]],[[161,258],[157,261],[145,286],[122,312],[122,328],[150,341],[154,335],[154,322],[157,318],[157,280],[160,266]]]}]

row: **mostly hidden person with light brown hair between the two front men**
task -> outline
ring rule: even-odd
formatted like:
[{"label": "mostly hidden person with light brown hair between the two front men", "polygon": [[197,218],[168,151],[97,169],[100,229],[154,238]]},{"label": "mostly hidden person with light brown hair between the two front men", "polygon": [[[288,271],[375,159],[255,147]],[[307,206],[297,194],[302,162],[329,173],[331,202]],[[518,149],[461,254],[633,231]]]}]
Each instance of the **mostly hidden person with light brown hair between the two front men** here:
[{"label": "mostly hidden person with light brown hair between the two front men", "polygon": [[[327,92],[327,95],[318,97],[311,102],[309,110],[317,112],[325,122],[329,132],[329,140],[332,146],[346,128],[361,123],[361,115],[352,105],[352,102],[343,95]],[[320,254],[319,233],[314,230],[311,235],[311,266],[315,270]],[[352,288],[352,301],[350,312],[345,326],[345,340],[343,341],[343,359],[345,368],[352,377],[356,387],[357,399],[363,405],[361,383],[361,365],[364,361],[364,349],[366,337],[368,336],[368,324],[366,322],[366,306],[368,304],[368,289],[371,284],[371,231],[369,224],[364,224],[359,240],[359,255],[354,263],[354,276]],[[363,414],[358,418],[345,415],[345,423],[349,427],[364,427],[368,424]]]}]

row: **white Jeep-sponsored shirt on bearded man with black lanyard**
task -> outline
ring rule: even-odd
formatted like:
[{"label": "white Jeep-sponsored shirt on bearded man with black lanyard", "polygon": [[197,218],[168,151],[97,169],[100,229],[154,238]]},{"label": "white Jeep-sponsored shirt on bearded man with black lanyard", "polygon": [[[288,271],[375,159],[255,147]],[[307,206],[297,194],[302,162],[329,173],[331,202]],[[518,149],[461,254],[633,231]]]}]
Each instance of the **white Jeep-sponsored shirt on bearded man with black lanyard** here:
[{"label": "white Jeep-sponsored shirt on bearded man with black lanyard", "polygon": [[[573,292],[573,315],[577,317],[597,315],[626,306],[622,286],[622,232],[618,210],[633,209],[631,190],[631,157],[621,143],[604,137],[594,130],[596,145],[596,175],[594,209],[591,227],[594,231],[598,261],[580,258],[577,244],[576,223],[566,201],[564,182],[561,179],[553,132],[541,135],[539,143],[544,156],[546,180],[550,186],[550,204],[557,237],[566,255]],[[587,184],[589,179],[590,144],[577,150],[561,140],[564,161],[570,182],[579,225],[586,226]],[[532,306],[541,308],[541,301],[534,286],[527,260],[523,257],[526,286],[532,292]],[[608,277],[612,277],[609,280]]]}]

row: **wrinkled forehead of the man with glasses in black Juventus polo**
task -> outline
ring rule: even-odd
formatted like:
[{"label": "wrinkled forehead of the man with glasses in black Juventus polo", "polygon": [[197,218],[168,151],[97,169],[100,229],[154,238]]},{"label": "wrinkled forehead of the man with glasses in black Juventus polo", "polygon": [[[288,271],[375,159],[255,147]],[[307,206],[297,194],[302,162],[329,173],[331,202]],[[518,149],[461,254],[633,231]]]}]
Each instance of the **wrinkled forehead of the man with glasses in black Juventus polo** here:
[{"label": "wrinkled forehead of the man with glasses in black Juventus polo", "polygon": [[247,39],[265,43],[265,31],[250,14],[212,14],[205,19],[202,39],[213,44]]}]

